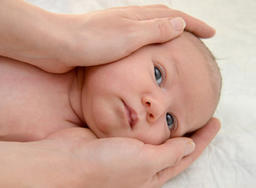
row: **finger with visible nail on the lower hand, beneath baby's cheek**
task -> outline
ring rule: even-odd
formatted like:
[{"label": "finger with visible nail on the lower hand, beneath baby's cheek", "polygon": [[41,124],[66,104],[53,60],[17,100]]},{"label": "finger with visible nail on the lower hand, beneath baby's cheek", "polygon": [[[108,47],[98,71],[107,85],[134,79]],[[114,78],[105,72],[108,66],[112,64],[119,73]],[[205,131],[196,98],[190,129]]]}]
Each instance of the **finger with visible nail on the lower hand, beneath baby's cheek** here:
[{"label": "finger with visible nail on the lower hand, beneath baby's cheek", "polygon": [[[151,161],[151,168],[159,172],[166,167],[178,164],[182,157],[191,154],[195,150],[195,144],[189,138],[169,139],[166,143],[159,146],[145,145],[144,151],[147,151],[148,161]],[[152,161],[154,161],[152,163]]]}]

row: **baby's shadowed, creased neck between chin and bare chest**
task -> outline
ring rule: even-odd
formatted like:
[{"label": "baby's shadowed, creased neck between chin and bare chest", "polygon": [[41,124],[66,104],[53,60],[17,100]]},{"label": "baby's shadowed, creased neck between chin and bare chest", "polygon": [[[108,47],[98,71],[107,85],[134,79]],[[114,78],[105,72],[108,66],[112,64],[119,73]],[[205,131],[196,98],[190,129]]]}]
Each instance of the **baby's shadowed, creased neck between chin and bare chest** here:
[{"label": "baby's shadowed, creased neck between chin and bare chest", "polygon": [[77,114],[84,125],[86,125],[86,121],[82,114],[82,85],[85,69],[86,67],[75,68],[75,75],[68,94],[72,110],[74,110],[75,114]]}]

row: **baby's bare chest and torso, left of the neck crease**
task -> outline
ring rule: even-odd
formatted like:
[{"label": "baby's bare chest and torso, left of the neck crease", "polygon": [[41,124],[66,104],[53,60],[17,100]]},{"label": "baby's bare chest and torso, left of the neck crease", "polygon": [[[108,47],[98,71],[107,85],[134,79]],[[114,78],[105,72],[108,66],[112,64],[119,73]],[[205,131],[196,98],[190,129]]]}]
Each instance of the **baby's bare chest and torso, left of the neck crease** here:
[{"label": "baby's bare chest and torso, left of the neck crease", "polygon": [[49,74],[5,57],[0,67],[1,140],[33,141],[60,128],[82,126],[68,95],[75,70]]}]

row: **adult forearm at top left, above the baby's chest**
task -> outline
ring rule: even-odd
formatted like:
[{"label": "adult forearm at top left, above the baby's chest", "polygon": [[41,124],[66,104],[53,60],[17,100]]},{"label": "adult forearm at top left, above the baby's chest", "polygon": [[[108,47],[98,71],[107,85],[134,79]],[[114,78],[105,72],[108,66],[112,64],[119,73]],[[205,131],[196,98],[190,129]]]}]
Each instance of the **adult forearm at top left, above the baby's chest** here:
[{"label": "adult forearm at top left, above the baby's chest", "polygon": [[49,69],[46,71],[51,71],[53,65],[60,66],[55,72],[66,71],[68,67],[59,60],[67,47],[62,27],[65,26],[56,13],[22,0],[1,0],[0,55]]}]

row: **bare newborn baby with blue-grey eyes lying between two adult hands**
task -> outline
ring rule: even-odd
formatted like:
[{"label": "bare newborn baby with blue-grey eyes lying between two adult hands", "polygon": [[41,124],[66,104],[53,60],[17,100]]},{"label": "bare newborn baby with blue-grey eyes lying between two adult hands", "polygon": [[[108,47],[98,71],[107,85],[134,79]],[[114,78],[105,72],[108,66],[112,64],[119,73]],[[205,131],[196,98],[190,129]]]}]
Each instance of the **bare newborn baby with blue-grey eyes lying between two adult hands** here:
[{"label": "bare newborn baby with blue-grey eyes lying between two adult hands", "polygon": [[2,141],[34,141],[61,128],[85,127],[97,138],[157,145],[209,121],[221,75],[207,47],[185,32],[115,63],[66,74],[1,57],[0,88]]}]

